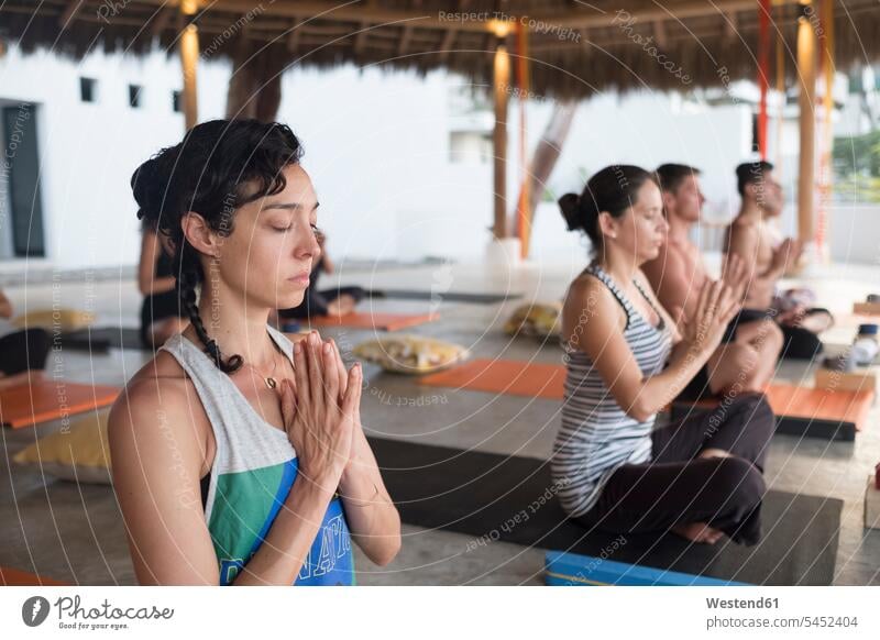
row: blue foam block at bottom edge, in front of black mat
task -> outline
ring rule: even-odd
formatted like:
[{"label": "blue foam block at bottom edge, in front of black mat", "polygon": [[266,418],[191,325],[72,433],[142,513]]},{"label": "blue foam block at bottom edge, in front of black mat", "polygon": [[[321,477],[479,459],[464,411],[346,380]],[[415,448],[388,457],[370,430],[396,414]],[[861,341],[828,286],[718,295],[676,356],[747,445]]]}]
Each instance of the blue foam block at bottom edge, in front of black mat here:
[{"label": "blue foam block at bottom edge, in front of black mat", "polygon": [[627,564],[591,555],[548,551],[544,556],[548,586],[745,586],[747,583],[718,580]]}]

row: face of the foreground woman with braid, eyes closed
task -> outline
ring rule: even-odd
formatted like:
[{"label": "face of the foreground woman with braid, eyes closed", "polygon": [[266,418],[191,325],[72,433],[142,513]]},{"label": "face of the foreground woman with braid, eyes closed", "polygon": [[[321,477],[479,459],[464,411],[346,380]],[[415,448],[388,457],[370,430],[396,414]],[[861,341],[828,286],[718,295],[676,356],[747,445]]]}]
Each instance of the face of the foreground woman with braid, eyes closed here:
[{"label": "face of the foreground woman with braid, eyes closed", "polygon": [[232,233],[219,239],[217,266],[226,286],[245,294],[250,304],[277,309],[302,301],[321,253],[311,180],[299,165],[288,165],[284,176],[283,191],[234,211]]}]

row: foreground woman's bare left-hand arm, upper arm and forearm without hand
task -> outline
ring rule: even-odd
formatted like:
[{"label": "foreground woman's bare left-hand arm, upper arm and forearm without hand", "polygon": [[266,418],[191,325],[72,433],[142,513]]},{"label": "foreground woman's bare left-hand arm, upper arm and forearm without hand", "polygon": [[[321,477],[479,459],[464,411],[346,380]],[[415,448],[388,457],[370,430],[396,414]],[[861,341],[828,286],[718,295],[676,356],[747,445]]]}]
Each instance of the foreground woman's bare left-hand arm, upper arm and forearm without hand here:
[{"label": "foreground woman's bare left-hand arm, upper arm and forearm without hand", "polygon": [[[140,584],[218,585],[205,511],[199,442],[183,387],[144,380],[120,396],[108,422],[113,484]],[[161,399],[161,401],[160,401]],[[317,536],[332,492],[298,478],[265,543],[233,585],[292,585]]]}]

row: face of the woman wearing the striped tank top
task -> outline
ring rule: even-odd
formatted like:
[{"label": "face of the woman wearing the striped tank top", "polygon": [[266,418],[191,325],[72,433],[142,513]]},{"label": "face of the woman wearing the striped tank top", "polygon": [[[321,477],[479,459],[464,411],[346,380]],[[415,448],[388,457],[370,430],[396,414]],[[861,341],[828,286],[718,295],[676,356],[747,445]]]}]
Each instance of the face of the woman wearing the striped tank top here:
[{"label": "face of the woman wearing the striped tank top", "polygon": [[[608,216],[603,213],[603,216]],[[632,207],[617,219],[608,216],[610,236],[604,234],[604,242],[614,243],[632,255],[641,265],[656,258],[660,246],[666,242],[669,224],[663,216],[663,199],[660,188],[647,180],[638,190]]]}]

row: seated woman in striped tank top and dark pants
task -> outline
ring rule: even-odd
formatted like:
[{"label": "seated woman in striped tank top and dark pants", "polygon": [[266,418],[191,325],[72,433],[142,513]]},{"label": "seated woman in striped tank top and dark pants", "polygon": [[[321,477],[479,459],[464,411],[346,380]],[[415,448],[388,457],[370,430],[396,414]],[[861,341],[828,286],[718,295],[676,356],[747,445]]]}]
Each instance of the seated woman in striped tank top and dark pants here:
[{"label": "seated woman in striped tank top and dark pants", "polygon": [[562,315],[562,424],[551,468],[570,517],[612,532],[666,531],[714,543],[760,539],[763,461],[773,413],[743,394],[716,410],[654,430],[719,344],[737,310],[707,282],[692,322],[676,324],[640,266],[668,230],[654,177],[614,165],[559,206],[587,234],[594,258],[569,287]]}]

